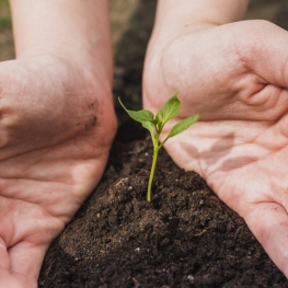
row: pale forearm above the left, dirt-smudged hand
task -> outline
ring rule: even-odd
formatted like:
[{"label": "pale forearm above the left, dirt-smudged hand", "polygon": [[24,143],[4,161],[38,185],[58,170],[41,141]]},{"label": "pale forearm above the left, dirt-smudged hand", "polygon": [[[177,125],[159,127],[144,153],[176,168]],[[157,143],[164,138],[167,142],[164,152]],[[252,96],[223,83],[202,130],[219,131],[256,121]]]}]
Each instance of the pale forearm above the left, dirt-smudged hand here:
[{"label": "pale forearm above the left, dirt-smudged hand", "polygon": [[51,56],[112,78],[107,1],[10,2],[16,58]]}]

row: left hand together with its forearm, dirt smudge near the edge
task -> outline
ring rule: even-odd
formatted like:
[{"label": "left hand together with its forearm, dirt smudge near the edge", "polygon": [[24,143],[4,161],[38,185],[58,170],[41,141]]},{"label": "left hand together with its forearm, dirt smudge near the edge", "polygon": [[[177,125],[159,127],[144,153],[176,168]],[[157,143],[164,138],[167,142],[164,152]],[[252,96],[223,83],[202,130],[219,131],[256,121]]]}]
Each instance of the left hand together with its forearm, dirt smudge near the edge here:
[{"label": "left hand together with its forearm, dirt smudge near the edge", "polygon": [[49,243],[100,181],[115,135],[108,7],[11,8],[16,59],[0,64],[0,287],[33,288]]}]

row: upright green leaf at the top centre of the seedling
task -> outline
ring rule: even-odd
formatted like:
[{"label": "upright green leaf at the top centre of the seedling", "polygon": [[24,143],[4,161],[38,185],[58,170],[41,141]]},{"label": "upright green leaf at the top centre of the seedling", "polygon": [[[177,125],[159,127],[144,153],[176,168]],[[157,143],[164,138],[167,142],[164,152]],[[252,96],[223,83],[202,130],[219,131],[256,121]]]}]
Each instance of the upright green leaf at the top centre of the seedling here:
[{"label": "upright green leaf at the top centre of the seedling", "polygon": [[180,113],[180,100],[177,97],[176,93],[173,95],[165,104],[164,106],[157,113],[155,119],[158,123],[161,124],[161,126],[164,126],[164,124],[172,119],[175,118],[178,113]]}]

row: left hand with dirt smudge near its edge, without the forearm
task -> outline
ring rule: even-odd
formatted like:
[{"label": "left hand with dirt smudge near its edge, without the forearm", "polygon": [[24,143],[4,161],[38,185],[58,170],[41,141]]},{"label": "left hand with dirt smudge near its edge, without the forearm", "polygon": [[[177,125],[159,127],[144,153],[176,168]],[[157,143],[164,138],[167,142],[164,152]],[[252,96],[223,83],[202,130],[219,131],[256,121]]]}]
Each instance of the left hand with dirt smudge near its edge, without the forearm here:
[{"label": "left hand with dirt smudge near its edge, without the forearm", "polygon": [[0,64],[0,287],[37,287],[51,240],[100,181],[111,81],[50,56]]}]

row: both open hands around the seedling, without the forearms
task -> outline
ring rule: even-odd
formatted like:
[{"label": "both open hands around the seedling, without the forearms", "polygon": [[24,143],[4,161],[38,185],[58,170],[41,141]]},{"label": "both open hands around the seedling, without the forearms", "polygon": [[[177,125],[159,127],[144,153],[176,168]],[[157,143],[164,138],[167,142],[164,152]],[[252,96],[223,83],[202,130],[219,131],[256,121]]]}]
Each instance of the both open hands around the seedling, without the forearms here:
[{"label": "both open hands around the seedling, without the forearms", "polygon": [[[215,26],[153,42],[143,72],[146,108],[180,91],[180,118],[201,115],[168,152],[245,219],[286,276],[287,45],[287,32],[267,22]],[[37,286],[49,243],[106,164],[116,130],[110,81],[71,62],[0,65],[0,287]]]}]

